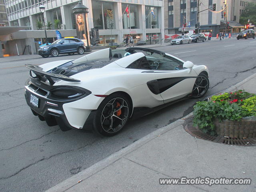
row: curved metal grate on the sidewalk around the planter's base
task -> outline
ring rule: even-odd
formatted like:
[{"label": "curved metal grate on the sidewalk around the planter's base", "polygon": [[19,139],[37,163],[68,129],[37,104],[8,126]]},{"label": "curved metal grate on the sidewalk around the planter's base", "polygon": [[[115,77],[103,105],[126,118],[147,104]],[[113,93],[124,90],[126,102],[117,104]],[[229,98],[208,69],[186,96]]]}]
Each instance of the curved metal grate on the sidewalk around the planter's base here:
[{"label": "curved metal grate on the sidewalk around the planter's base", "polygon": [[216,143],[228,144],[228,145],[238,145],[238,146],[256,146],[255,138],[230,138],[224,136],[211,136],[202,132],[198,127],[193,126],[193,121],[190,121],[185,126],[185,131],[188,132],[195,138],[208,140]]}]

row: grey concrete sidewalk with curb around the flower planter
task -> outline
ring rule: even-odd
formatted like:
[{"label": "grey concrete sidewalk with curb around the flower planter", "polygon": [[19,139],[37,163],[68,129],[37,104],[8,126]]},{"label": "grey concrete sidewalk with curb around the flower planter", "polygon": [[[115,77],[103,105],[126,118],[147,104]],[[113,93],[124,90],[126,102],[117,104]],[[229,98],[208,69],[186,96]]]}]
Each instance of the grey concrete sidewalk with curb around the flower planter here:
[{"label": "grey concrete sidewalk with curb around the flower planter", "polygon": [[[256,74],[224,90],[256,93]],[[47,192],[233,192],[256,191],[256,147],[194,138],[184,131],[188,116],[160,128],[50,188]],[[121,133],[122,134],[122,133]],[[159,178],[251,178],[251,185],[160,185]]]}]

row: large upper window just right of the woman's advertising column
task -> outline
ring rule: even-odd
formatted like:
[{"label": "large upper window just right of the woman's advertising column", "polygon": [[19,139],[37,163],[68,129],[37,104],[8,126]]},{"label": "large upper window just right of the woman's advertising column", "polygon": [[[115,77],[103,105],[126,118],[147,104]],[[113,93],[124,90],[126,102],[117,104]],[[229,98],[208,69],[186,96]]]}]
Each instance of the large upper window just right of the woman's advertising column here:
[{"label": "large upper window just right of the woman's advertising column", "polygon": [[114,3],[92,1],[92,10],[94,28],[116,29]]}]

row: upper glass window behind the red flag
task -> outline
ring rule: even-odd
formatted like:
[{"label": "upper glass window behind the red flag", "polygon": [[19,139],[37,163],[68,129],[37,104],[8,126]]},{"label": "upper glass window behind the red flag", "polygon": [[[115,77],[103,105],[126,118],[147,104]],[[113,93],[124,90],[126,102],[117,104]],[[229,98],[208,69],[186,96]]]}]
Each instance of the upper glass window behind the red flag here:
[{"label": "upper glass window behind the red flag", "polygon": [[[126,12],[126,8],[128,12]],[[122,3],[122,12],[124,12],[122,16],[123,21],[123,29],[138,29],[140,28],[139,23],[139,9],[138,5],[124,4]]]}]

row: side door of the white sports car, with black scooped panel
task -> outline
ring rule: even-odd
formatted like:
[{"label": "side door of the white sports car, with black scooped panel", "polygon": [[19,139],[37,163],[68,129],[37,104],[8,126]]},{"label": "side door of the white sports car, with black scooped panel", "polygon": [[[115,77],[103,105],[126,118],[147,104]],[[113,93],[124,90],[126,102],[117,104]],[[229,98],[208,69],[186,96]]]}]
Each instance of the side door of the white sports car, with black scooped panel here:
[{"label": "side door of the white sports car, with black scooped panel", "polygon": [[171,55],[154,52],[145,55],[156,78],[151,83],[158,86],[165,103],[191,94],[197,76],[194,70],[183,68],[183,62]]}]

